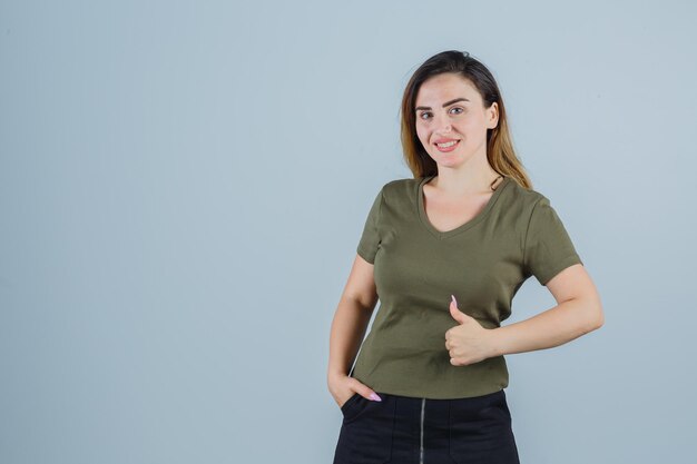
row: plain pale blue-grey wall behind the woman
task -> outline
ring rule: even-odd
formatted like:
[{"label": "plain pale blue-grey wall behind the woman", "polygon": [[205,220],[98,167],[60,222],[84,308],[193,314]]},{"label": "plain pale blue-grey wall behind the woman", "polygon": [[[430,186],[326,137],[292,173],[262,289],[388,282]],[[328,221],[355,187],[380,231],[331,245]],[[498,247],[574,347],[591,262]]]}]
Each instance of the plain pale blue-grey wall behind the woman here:
[{"label": "plain pale blue-grey wall behind the woman", "polygon": [[[688,1],[0,2],[0,462],[330,463],[399,103],[468,50],[605,326],[507,356],[528,464],[694,463]],[[553,306],[534,278],[512,323]]]}]

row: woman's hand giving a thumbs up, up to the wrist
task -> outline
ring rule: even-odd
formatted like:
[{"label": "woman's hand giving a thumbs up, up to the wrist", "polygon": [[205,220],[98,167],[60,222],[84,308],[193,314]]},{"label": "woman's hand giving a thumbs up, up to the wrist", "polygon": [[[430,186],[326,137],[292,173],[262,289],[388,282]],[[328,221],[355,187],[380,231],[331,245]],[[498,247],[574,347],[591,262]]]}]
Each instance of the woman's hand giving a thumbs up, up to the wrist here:
[{"label": "woman's hand giving a thumbs up, up to the wrist", "polygon": [[[451,295],[452,296],[452,295]],[[452,296],[450,315],[458,325],[445,332],[445,348],[450,354],[450,364],[467,366],[493,356],[492,330],[458,309],[458,302]]]}]

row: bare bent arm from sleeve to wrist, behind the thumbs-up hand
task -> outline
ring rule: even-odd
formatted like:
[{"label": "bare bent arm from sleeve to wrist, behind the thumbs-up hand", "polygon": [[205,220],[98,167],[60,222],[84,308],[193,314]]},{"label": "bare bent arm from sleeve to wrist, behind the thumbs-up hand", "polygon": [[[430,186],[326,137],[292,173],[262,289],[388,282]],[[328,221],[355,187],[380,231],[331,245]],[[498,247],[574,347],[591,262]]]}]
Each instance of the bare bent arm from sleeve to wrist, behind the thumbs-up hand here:
[{"label": "bare bent arm from sleeve to wrist, behind the thumbs-up hand", "polygon": [[576,264],[547,283],[557,306],[516,324],[491,329],[494,356],[562,345],[605,323],[600,296],[586,268]]}]

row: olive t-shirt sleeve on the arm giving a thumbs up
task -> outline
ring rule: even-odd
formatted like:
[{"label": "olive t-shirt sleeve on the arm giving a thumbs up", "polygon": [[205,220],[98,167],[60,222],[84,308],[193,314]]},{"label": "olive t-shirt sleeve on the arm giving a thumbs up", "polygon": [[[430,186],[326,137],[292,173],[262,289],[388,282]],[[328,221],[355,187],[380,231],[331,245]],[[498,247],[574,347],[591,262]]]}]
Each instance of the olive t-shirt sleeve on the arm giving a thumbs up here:
[{"label": "olive t-shirt sleeve on the arm giving a thumbs up", "polygon": [[523,264],[529,275],[534,275],[540,285],[575,264],[583,264],[561,219],[542,197],[532,207],[526,234]]}]

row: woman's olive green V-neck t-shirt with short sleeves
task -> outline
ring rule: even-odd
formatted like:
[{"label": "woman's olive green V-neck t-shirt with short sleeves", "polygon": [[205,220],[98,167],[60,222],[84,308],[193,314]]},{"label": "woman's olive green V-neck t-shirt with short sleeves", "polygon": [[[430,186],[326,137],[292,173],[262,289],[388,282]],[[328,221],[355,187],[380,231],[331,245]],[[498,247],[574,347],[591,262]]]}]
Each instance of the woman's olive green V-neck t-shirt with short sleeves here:
[{"label": "woman's olive green V-neck t-shirt with short sleeves", "polygon": [[351,376],[394,395],[485,395],[508,386],[505,361],[450,363],[445,332],[459,324],[450,295],[483,327],[499,327],[531,275],[546,285],[582,261],[549,199],[510,177],[475,217],[439,231],[423,200],[433,177],[385,184],[370,209],[357,253],[374,265],[380,307]]}]

